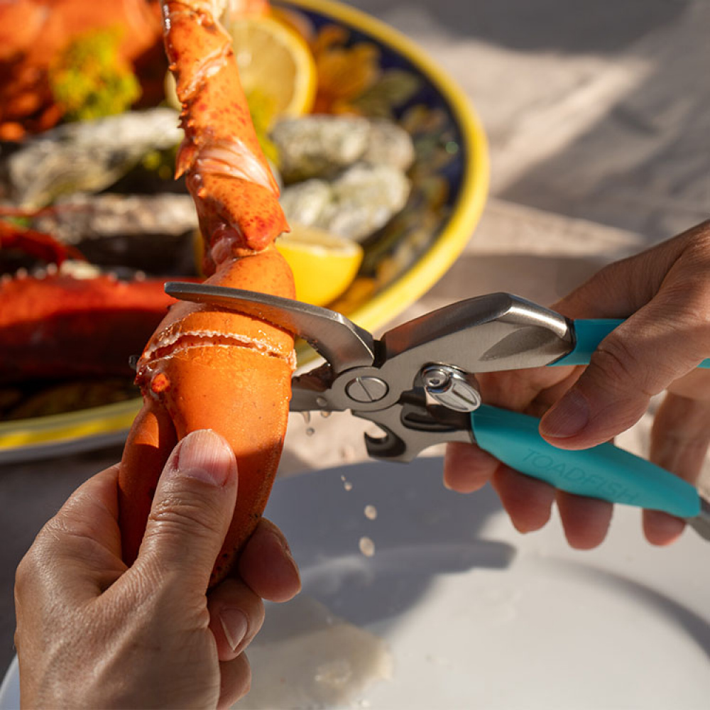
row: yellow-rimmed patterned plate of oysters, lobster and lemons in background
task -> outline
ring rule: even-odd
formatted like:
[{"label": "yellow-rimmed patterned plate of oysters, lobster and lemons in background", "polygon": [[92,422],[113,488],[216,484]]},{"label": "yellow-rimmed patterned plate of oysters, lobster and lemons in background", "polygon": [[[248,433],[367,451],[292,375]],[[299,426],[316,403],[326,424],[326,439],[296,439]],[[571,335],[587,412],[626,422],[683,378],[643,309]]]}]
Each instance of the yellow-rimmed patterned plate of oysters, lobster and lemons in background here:
[{"label": "yellow-rimmed patterned plate of oysters, lobster and lemons in background", "polygon": [[[18,28],[0,48],[0,462],[121,442],[141,405],[136,357],[174,303],[165,282],[203,280],[217,253],[184,167],[212,126],[185,118],[160,3],[46,4],[0,7]],[[378,329],[474,232],[488,189],[474,108],[415,43],[346,4],[215,6],[268,167],[226,143],[200,165],[268,183],[295,296]],[[199,190],[219,200],[209,180]]]}]

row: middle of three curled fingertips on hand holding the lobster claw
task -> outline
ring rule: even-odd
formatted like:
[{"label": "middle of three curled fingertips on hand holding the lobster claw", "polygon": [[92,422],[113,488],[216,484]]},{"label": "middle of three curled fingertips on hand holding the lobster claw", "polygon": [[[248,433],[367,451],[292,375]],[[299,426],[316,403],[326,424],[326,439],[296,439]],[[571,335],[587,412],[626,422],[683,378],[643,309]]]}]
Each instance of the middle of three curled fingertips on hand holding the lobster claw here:
[{"label": "middle of three curled fingertips on hand holding the lobster claw", "polygon": [[221,661],[232,660],[244,651],[264,621],[261,597],[238,579],[218,584],[209,593],[207,608]]}]

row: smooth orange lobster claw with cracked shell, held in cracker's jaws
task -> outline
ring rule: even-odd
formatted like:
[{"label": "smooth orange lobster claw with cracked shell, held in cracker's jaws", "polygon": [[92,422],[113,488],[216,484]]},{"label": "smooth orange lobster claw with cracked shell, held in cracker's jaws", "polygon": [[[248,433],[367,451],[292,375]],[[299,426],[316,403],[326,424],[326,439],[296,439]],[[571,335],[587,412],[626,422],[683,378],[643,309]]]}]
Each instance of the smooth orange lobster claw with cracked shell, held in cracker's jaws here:
[{"label": "smooth orange lobster claw with cracked shell, held in cracker's jaws", "polygon": [[[273,246],[237,259],[206,283],[291,294],[293,276]],[[131,429],[119,475],[124,560],[138,554],[160,471],[178,440],[209,428],[231,445],[239,496],[212,572],[224,577],[271,492],[288,421],[293,336],[253,317],[180,302],[138,362],[143,410]]]}]

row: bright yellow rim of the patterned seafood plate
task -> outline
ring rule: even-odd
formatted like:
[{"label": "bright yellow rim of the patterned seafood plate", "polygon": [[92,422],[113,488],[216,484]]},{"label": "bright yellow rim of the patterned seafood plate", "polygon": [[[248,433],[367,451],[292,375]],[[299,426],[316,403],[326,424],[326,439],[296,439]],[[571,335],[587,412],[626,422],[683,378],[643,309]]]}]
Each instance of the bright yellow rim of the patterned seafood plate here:
[{"label": "bright yellow rim of the patterned seafood plate", "polygon": [[[301,7],[332,16],[334,20],[368,33],[408,58],[447,98],[466,144],[466,171],[459,199],[437,243],[413,268],[374,296],[349,317],[361,327],[374,330],[413,304],[446,273],[466,246],[486,204],[489,182],[488,143],[478,114],[466,94],[413,40],[386,23],[358,9],[334,0],[286,0]],[[453,258],[452,258],[453,257]],[[128,430],[141,408],[141,400],[93,407],[78,412],[15,420],[0,424],[0,462],[3,452],[23,447],[72,442],[109,432]]]}]

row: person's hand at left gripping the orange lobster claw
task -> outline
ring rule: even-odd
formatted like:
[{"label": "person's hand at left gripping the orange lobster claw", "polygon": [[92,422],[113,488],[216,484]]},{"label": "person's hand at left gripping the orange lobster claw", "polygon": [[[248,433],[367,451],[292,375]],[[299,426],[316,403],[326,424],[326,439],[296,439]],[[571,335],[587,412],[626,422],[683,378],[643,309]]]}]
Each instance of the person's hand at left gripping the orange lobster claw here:
[{"label": "person's hand at left gripping the orange lobster claw", "polygon": [[263,599],[300,589],[283,534],[261,520],[239,577],[207,592],[238,488],[214,432],[175,447],[155,492],[138,559],[121,561],[119,466],[93,476],[39,532],[16,575],[25,707],[208,708],[249,690],[244,649]]}]

